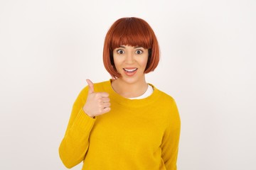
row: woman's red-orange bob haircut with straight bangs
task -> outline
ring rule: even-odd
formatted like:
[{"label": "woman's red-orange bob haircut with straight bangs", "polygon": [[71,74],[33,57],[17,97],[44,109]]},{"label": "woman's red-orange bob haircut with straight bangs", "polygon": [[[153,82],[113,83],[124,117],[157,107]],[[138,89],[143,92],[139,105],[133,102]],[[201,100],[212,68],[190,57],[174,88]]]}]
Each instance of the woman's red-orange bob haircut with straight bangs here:
[{"label": "woman's red-orange bob haircut with straight bangs", "polygon": [[139,46],[149,50],[144,73],[153,72],[159,64],[159,43],[154,31],[141,18],[120,18],[107,31],[103,48],[103,62],[113,78],[121,77],[114,66],[113,50],[120,45]]}]

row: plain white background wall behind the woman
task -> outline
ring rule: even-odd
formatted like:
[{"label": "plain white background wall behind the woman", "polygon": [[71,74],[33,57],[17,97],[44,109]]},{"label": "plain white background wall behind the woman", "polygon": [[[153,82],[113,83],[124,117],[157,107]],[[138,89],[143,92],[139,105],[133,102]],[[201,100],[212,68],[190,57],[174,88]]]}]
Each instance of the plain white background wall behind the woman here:
[{"label": "plain white background wall behind the woman", "polygon": [[[108,28],[144,18],[161,62],[147,81],[176,99],[179,170],[254,170],[255,0],[0,1],[0,169],[65,169],[58,146]],[[73,169],[80,169],[81,164]]]}]

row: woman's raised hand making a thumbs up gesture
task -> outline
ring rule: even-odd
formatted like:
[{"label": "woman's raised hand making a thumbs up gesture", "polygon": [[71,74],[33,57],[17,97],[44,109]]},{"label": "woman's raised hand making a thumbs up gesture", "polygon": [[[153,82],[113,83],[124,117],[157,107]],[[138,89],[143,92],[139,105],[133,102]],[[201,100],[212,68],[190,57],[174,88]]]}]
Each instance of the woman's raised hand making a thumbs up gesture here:
[{"label": "woman's raised hand making a thumbs up gesture", "polygon": [[106,92],[96,93],[94,91],[94,86],[90,79],[87,79],[87,84],[89,86],[87,100],[85,102],[85,106],[83,106],[83,110],[87,115],[91,118],[102,115],[110,111],[110,98],[109,94]]}]

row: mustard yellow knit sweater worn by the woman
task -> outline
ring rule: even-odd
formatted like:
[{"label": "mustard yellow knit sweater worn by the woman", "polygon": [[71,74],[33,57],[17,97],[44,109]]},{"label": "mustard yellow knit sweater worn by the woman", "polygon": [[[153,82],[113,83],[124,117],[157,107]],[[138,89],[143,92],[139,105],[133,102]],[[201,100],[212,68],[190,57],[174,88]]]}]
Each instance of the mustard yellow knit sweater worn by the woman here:
[{"label": "mustard yellow knit sweater worn by the woman", "polygon": [[[151,85],[152,86],[152,85]],[[119,96],[111,81],[94,84],[95,92],[110,94],[111,111],[90,118],[82,110],[88,87],[73,105],[60,159],[82,170],[176,170],[181,122],[171,96],[154,86],[151,96]]]}]

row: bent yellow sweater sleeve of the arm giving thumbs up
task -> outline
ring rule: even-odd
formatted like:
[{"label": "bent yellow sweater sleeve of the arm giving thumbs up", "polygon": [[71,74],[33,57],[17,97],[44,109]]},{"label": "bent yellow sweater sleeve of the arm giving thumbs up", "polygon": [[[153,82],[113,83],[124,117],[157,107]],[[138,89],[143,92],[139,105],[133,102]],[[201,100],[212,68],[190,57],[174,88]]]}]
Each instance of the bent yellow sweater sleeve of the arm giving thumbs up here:
[{"label": "bent yellow sweater sleeve of the arm giving thumbs up", "polygon": [[95,123],[95,119],[86,115],[82,109],[86,98],[87,87],[80,92],[73,105],[68,128],[59,147],[60,159],[69,169],[85,159],[90,131]]}]

